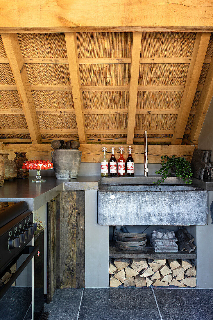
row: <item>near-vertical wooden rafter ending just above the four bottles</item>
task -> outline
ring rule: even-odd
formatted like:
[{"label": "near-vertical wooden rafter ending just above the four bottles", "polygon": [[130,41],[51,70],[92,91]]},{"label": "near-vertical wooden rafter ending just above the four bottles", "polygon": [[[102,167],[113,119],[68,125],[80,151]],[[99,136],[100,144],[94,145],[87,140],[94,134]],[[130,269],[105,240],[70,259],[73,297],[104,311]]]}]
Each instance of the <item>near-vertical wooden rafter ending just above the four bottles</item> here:
[{"label": "near-vertical wooden rafter ending just above the four bottles", "polygon": [[135,115],[138,97],[138,76],[140,68],[140,51],[141,51],[142,32],[133,32],[132,38],[132,57],[130,71],[130,92],[129,108],[127,122],[127,144],[132,144],[135,130]]}]

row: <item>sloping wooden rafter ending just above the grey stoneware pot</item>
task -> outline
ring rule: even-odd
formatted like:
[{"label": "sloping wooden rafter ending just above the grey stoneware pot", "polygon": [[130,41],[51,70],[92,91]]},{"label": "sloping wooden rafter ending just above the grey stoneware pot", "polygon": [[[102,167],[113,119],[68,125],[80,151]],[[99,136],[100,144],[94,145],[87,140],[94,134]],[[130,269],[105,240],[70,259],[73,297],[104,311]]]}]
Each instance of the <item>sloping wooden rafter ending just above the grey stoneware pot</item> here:
[{"label": "sloping wooden rafter ending just above the grey stoneware pot", "polygon": [[87,143],[76,33],[65,33],[65,41],[67,46],[67,58],[70,82],[72,86],[73,104],[78,128],[78,138],[80,143]]}]

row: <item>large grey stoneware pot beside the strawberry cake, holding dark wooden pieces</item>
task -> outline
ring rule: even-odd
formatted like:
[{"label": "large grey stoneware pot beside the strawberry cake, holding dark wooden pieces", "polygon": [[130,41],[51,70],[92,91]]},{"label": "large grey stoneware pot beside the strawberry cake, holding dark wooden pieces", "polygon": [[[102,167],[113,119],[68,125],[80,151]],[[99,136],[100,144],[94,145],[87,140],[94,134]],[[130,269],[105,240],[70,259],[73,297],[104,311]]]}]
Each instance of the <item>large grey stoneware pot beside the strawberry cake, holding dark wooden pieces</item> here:
[{"label": "large grey stoneware pot beside the strawberry cake, holding dark wooden pieces", "polygon": [[75,179],[78,175],[82,152],[79,150],[54,150],[51,152],[57,179]]}]

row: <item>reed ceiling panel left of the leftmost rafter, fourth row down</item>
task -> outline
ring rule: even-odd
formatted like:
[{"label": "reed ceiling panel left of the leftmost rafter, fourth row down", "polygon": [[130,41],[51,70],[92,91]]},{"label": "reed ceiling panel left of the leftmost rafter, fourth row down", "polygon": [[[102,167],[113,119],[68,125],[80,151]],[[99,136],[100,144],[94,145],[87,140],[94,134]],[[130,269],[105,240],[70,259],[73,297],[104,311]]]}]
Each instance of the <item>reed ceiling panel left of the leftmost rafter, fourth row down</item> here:
[{"label": "reed ceiling panel left of the leftmost rafter, fourth row down", "polygon": [[25,116],[23,114],[10,114],[0,116],[1,129],[28,129]]}]

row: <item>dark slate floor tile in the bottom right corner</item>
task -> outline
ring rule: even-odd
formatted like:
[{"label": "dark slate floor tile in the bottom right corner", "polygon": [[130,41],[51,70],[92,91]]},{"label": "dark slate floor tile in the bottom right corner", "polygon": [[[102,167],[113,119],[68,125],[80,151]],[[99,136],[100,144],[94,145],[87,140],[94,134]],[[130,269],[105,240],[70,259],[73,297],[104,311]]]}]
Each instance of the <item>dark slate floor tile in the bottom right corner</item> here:
[{"label": "dark slate floor tile in the bottom right corner", "polygon": [[163,320],[212,320],[213,290],[154,289]]}]

